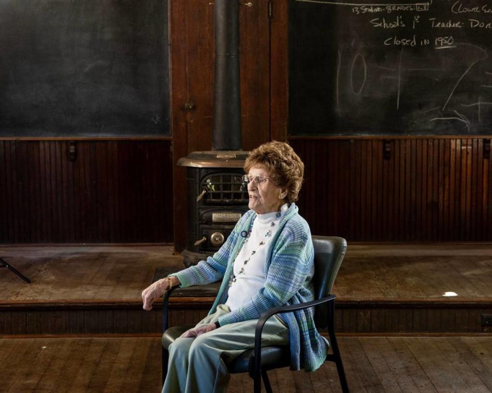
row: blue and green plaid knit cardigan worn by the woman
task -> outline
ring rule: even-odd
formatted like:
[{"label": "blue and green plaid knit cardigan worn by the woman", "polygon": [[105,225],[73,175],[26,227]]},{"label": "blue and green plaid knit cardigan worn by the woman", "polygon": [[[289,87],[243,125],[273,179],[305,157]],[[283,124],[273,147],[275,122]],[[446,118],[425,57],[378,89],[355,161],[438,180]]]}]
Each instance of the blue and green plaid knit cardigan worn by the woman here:
[{"label": "blue and green plaid knit cardigan worn by the woman", "polygon": [[[267,252],[265,284],[246,304],[219,318],[220,325],[258,319],[272,307],[299,304],[314,300],[312,278],[314,250],[308,223],[297,213],[295,203],[279,222]],[[241,231],[248,231],[256,213],[245,213],[237,222],[226,243],[213,257],[198,265],[174,274],[181,286],[208,284],[222,280],[217,298],[209,312],[215,313],[217,305],[227,301],[229,280],[233,274],[234,259],[243,244]],[[326,358],[326,342],[314,325],[314,308],[294,313],[280,314],[289,327],[291,369],[316,370]]]}]

